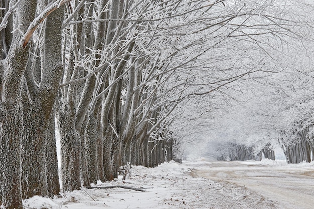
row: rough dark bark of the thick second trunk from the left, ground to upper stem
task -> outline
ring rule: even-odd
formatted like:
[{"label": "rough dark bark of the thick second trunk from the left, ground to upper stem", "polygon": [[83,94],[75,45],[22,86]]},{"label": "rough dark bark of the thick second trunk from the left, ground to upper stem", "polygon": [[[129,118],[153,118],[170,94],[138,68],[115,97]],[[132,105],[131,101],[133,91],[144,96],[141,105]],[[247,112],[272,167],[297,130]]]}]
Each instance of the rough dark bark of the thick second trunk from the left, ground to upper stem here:
[{"label": "rough dark bark of the thick second trunk from the left, ground to upper stem", "polygon": [[[54,162],[46,160],[46,142],[48,140],[46,137],[52,107],[57,97],[59,81],[63,73],[61,57],[63,14],[64,11],[59,8],[46,19],[40,87],[38,94],[36,94],[37,91],[31,92],[31,95],[34,95],[33,99],[28,98],[27,95],[24,97],[23,112],[25,124],[27,125],[24,126],[22,143],[23,198],[30,198],[34,195],[52,196],[52,193],[56,193],[58,190],[56,186],[57,190],[55,191],[48,186],[47,162],[54,165],[57,162],[53,156],[50,160],[55,160]],[[29,72],[27,73],[29,74]],[[25,77],[34,79],[28,75]],[[32,83],[32,81],[28,81],[28,83]],[[34,162],[37,162],[38,166],[34,166]],[[53,175],[56,176],[56,171],[54,173]]]}]

